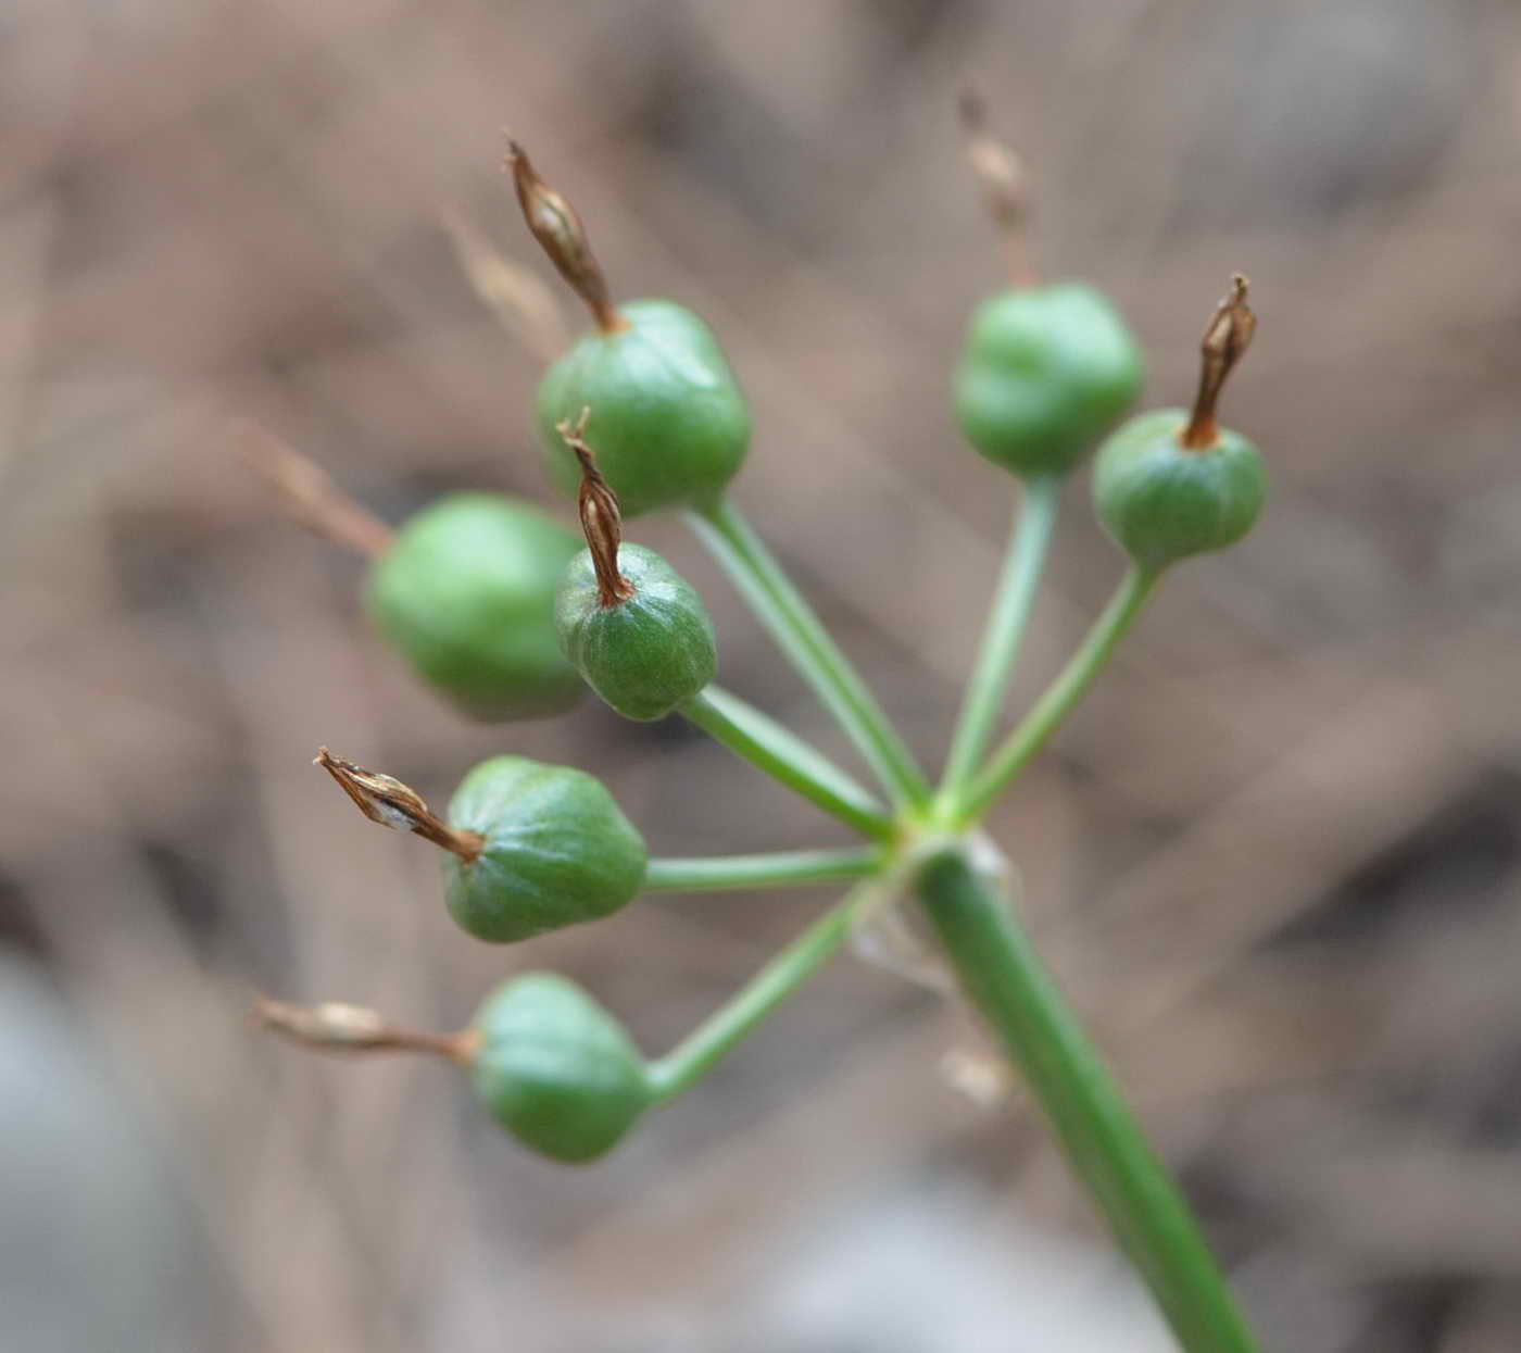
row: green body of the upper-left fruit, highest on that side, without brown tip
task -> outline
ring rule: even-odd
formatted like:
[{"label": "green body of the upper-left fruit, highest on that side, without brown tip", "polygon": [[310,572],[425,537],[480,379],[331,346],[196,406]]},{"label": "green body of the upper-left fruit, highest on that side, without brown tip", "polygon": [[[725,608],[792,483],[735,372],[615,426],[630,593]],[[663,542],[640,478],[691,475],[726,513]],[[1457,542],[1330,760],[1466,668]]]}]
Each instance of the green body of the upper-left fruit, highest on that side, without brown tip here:
[{"label": "green body of the upper-left fruit, highest on that side, without brown tip", "polygon": [[566,493],[581,481],[555,431],[592,409],[602,473],[625,517],[707,504],[739,470],[750,412],[709,327],[674,301],[630,301],[627,327],[587,333],[538,387],[549,476]]}]

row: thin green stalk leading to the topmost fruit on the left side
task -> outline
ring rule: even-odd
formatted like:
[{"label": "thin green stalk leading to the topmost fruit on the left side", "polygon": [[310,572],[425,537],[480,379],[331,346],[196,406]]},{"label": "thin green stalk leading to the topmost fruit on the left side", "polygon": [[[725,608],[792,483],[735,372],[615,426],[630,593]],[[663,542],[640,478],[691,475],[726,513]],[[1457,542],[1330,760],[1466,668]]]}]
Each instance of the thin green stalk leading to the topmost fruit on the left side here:
[{"label": "thin green stalk leading to the topmost fruit on the left side", "polygon": [[777,647],[849,734],[882,787],[896,799],[923,805],[929,797],[923,772],[865,682],[739,508],[721,499],[710,508],[687,513],[687,522],[718,559]]}]

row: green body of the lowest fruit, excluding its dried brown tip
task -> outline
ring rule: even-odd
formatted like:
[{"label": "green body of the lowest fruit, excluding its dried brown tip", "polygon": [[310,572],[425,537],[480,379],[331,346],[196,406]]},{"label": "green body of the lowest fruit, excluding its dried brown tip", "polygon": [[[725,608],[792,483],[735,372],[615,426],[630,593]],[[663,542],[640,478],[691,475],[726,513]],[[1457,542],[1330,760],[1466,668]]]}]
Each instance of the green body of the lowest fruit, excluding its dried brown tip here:
[{"label": "green body of the lowest fruit, excluding its dried brown tip", "polygon": [[593,1160],[649,1105],[645,1062],[624,1026],[573,982],[528,973],[476,1012],[475,1090],[541,1155]]}]

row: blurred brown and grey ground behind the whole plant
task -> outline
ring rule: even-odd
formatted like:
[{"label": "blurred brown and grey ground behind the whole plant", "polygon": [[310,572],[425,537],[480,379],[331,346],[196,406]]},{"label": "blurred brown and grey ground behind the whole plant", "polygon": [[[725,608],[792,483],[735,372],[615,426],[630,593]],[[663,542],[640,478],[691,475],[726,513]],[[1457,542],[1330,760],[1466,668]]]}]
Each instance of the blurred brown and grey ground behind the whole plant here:
[{"label": "blurred brown and grey ground behind the whole plant", "polygon": [[[1272,1348],[1521,1347],[1518,37],[1483,0],[9,0],[0,1344],[1167,1347],[1018,1094],[945,1074],[976,1079],[961,1017],[879,969],[835,965],[581,1170],[443,1067],[246,1018],[263,988],[455,1027],[548,965],[660,1050],[823,904],[453,930],[429,849],[362,822],[318,743],[437,799],[494,750],[584,766],[660,852],[837,836],[684,727],[443,711],[224,419],[391,521],[548,499],[535,361],[440,225],[551,275],[510,125],[619,294],[719,330],[757,420],[739,499],[934,758],[1011,501],[946,412],[999,285],[973,79],[1045,269],[1118,298],[1151,399],[1188,397],[1252,275],[1226,414],[1273,475],[998,814],[1031,924]],[[1069,499],[1019,702],[1118,572]],[[678,524],[637,539],[706,592],[727,680],[844,756]]]}]

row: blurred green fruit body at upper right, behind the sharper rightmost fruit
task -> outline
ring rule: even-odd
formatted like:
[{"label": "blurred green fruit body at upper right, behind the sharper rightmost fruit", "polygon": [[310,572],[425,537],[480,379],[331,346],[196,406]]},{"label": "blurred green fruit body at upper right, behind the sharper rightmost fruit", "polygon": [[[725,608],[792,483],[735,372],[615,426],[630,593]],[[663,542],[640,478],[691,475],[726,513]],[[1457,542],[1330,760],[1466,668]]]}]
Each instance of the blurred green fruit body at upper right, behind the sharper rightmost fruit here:
[{"label": "blurred green fruit body at upper right, behind the sharper rightmost fruit", "polygon": [[1135,403],[1144,376],[1124,320],[1091,286],[1005,291],[972,317],[957,422],[1022,478],[1065,475]]}]

